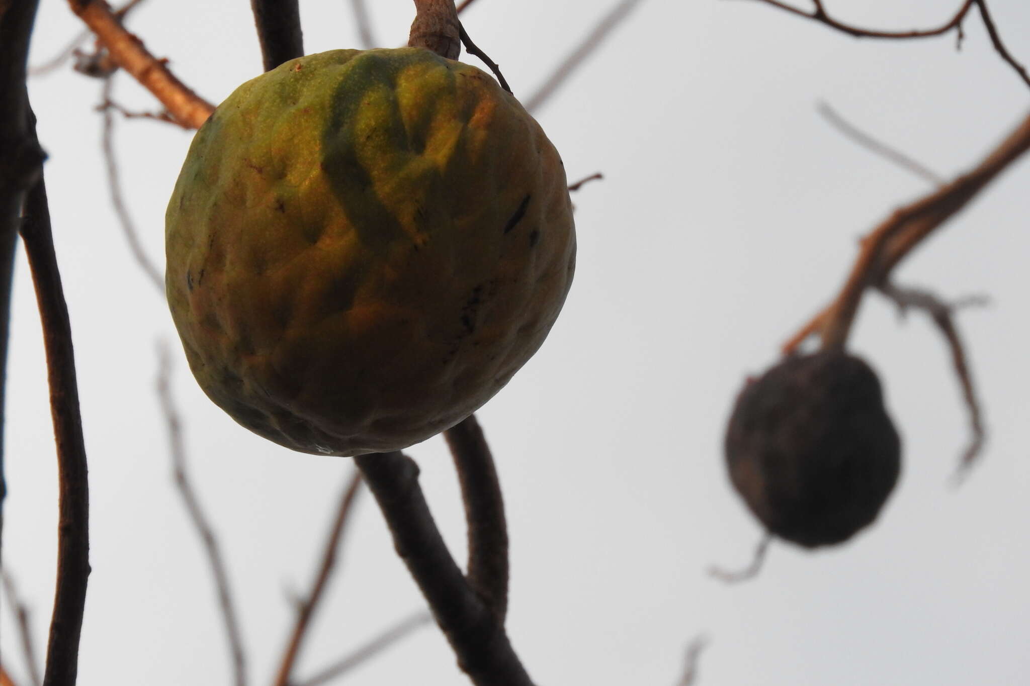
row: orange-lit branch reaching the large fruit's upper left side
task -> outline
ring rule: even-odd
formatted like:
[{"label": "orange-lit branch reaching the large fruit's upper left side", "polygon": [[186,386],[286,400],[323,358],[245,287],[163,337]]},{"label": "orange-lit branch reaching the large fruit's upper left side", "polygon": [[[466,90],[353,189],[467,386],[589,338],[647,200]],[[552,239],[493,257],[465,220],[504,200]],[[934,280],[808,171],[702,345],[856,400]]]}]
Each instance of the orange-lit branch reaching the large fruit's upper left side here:
[{"label": "orange-lit branch reaching the large fruit's upper left side", "polygon": [[126,31],[122,22],[100,0],[68,0],[72,11],[97,35],[111,59],[149,91],[185,127],[199,129],[214,107],[191,91],[169,71],[142,41]]}]

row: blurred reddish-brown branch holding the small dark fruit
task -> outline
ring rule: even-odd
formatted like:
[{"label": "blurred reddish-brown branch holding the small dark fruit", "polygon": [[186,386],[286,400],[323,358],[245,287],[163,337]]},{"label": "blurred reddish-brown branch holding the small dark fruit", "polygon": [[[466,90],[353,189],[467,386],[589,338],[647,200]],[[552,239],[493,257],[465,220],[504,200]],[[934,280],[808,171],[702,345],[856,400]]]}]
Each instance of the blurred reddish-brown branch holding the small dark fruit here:
[{"label": "blurred reddish-brown branch holding the small dark fruit", "polygon": [[784,344],[784,354],[794,352],[813,333],[820,334],[823,348],[843,347],[866,287],[887,281],[898,262],[965,208],[1027,149],[1030,149],[1030,115],[975,168],[882,221],[862,241],[858,258],[836,298]]}]

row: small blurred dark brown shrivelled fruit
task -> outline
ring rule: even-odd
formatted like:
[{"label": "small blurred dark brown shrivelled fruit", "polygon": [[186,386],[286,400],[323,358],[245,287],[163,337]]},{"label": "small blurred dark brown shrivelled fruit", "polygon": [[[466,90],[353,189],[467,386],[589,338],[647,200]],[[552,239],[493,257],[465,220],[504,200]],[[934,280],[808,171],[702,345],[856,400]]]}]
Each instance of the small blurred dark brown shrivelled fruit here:
[{"label": "small blurred dark brown shrivelled fruit", "polygon": [[839,351],[789,357],[749,381],[725,454],[733,488],[769,533],[810,548],[870,525],[901,466],[880,380]]}]

